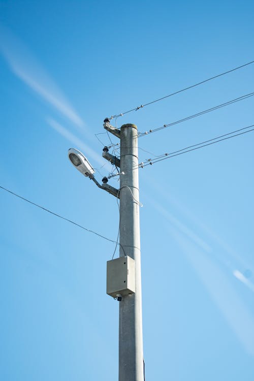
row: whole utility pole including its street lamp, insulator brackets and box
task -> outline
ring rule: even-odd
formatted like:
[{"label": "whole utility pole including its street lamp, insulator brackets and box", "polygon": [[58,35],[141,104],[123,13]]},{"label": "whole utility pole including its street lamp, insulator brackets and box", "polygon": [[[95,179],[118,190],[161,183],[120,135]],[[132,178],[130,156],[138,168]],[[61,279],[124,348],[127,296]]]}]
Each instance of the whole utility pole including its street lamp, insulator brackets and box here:
[{"label": "whole utility pole including its street lamp, insulator brackets and box", "polygon": [[104,120],[104,128],[120,139],[120,160],[103,149],[103,157],[120,168],[120,189],[100,184],[82,152],[70,148],[68,156],[76,169],[99,188],[120,199],[119,258],[107,262],[107,294],[119,301],[119,381],[144,381],[141,262],[139,226],[138,130],[123,124],[120,131]]}]

